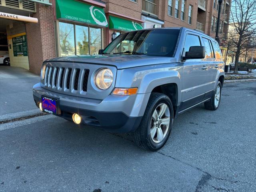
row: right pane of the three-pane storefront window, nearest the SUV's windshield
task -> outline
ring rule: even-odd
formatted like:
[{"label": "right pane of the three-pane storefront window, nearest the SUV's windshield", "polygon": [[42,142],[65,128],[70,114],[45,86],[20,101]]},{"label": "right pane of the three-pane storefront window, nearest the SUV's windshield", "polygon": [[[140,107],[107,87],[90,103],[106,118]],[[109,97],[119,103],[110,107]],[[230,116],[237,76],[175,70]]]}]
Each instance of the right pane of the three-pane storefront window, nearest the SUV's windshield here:
[{"label": "right pane of the three-pane storefront window, nearest the SUV's windshield", "polygon": [[90,54],[98,54],[101,49],[101,29],[90,28]]}]

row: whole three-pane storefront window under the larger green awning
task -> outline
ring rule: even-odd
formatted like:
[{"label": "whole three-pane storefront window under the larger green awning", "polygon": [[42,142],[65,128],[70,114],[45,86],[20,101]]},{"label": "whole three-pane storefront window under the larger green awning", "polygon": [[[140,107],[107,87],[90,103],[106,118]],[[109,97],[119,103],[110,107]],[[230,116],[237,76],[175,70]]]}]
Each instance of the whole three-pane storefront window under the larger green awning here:
[{"label": "whole three-pane storefront window under the larger green awning", "polygon": [[[75,54],[98,54],[98,50],[102,48],[102,34],[100,28],[91,28],[64,22],[59,22],[59,28],[61,57]],[[74,28],[76,30],[74,30]]]}]

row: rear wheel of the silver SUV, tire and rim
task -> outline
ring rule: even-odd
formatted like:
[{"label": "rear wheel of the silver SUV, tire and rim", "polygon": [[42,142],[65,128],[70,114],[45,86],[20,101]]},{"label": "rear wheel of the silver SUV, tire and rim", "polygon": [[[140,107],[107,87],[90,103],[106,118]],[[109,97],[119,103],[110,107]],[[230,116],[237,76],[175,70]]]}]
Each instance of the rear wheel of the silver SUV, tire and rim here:
[{"label": "rear wheel of the silver SUV, tire and rim", "polygon": [[221,83],[218,82],[217,87],[212,95],[210,101],[204,103],[204,107],[208,110],[216,110],[220,105],[220,97],[221,97]]}]

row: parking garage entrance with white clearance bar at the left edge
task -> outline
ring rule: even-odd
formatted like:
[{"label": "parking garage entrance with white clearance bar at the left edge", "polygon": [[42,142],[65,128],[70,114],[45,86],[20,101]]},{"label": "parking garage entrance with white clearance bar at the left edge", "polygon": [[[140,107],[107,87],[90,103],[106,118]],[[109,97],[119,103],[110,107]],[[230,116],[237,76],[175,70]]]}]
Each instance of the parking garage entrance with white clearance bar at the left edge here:
[{"label": "parking garage entrance with white clearance bar at the left edge", "polygon": [[0,6],[1,65],[18,66],[29,70],[25,23],[28,16],[27,11]]}]

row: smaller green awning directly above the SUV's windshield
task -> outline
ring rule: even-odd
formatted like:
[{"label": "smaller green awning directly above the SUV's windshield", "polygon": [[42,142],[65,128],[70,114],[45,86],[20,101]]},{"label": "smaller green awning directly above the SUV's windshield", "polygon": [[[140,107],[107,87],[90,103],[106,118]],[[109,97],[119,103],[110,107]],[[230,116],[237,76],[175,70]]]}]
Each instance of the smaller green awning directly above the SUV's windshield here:
[{"label": "smaller green awning directly above the SUV's windshield", "polygon": [[137,22],[114,16],[109,16],[109,28],[120,31],[134,31],[143,29],[142,25]]}]

